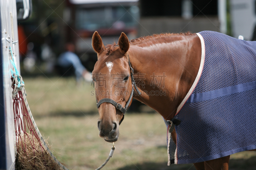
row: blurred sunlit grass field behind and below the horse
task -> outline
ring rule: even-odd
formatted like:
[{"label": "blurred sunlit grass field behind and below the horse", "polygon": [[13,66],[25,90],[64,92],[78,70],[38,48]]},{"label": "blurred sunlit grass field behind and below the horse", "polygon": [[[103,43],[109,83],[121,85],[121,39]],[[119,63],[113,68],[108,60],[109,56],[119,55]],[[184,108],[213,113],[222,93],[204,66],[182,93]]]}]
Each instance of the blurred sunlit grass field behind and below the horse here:
[{"label": "blurred sunlit grass field behind and below the horse", "polygon": [[[98,136],[98,109],[90,83],[74,78],[23,78],[36,124],[69,169],[93,170],[108,157],[112,144]],[[104,170],[195,169],[167,166],[166,127],[159,114],[127,113],[113,158]],[[256,169],[256,152],[231,155],[230,169]]]}]

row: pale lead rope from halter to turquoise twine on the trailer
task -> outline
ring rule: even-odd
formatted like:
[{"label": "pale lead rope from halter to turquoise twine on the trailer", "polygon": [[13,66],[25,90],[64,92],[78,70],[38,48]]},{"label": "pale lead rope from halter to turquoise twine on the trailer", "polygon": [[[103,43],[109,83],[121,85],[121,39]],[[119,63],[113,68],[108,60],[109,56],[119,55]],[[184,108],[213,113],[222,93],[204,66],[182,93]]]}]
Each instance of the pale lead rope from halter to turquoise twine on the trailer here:
[{"label": "pale lead rope from halter to turquoise twine on the trailer", "polygon": [[[49,155],[52,157],[52,159],[61,167],[63,168],[64,170],[68,170],[68,168],[66,168],[65,166],[63,166],[58,159],[56,159],[56,157],[52,154],[52,152],[50,151],[49,147],[47,146],[47,144],[45,143],[44,141],[44,138],[42,137],[39,129],[37,128],[36,126],[36,122],[32,116],[32,113],[30,111],[30,108],[28,106],[28,100],[26,99],[26,91],[25,91],[25,88],[24,88],[24,82],[22,81],[22,77],[19,75],[19,71],[17,70],[16,68],[16,64],[14,63],[14,59],[13,59],[13,55],[12,55],[12,48],[10,47],[9,48],[10,50],[10,53],[11,53],[11,59],[10,59],[10,62],[12,63],[12,66],[13,66],[13,70],[10,69],[11,73],[12,73],[12,77],[13,77],[13,80],[12,80],[12,84],[14,83],[14,89],[12,91],[12,98],[15,98],[15,96],[19,93],[19,91],[21,91],[20,94],[22,94],[22,99],[24,100],[24,103],[25,103],[25,106],[26,106],[26,109],[27,109],[27,112],[31,121],[32,121],[32,124],[33,124],[33,127],[34,127],[34,130],[36,130],[36,133],[41,141],[42,144],[44,144],[44,147],[45,149],[47,150],[47,152],[49,153]],[[114,150],[115,150],[115,145],[114,145],[114,142],[113,142],[113,147],[111,147],[111,150],[110,150],[110,153],[109,153],[109,156],[107,158],[107,160],[99,167],[97,168],[96,170],[100,170],[103,166],[105,166],[109,159],[113,156],[113,153],[114,153]]]}]

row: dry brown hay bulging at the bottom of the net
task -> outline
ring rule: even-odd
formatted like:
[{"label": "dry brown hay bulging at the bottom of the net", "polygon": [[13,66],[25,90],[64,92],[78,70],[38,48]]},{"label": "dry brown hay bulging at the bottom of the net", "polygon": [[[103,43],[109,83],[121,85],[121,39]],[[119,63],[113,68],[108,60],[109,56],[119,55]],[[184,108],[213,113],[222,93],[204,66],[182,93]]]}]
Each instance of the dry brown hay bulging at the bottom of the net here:
[{"label": "dry brown hay bulging at the bottom of the net", "polygon": [[[24,137],[25,136],[25,137]],[[48,154],[46,149],[44,150],[37,139],[34,137],[34,148],[29,142],[29,138],[33,144],[33,138],[31,135],[22,134],[21,141],[17,144],[17,154],[16,154],[16,168],[17,170],[63,170]],[[49,139],[49,138],[48,138]],[[47,140],[48,140],[47,139]],[[26,144],[25,144],[26,140]],[[51,145],[45,140],[45,143],[51,149]],[[44,146],[43,146],[44,147]]]}]

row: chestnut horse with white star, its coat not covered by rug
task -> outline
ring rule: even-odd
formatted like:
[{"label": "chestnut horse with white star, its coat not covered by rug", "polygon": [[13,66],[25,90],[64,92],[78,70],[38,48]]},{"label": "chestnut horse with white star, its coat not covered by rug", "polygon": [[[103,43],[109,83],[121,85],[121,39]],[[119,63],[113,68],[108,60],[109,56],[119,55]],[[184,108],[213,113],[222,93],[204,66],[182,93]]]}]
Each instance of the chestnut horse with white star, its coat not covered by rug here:
[{"label": "chestnut horse with white star, its coat not covered by rug", "polygon": [[[98,54],[92,71],[99,94],[98,129],[99,136],[107,142],[117,141],[119,125],[132,97],[156,110],[165,120],[171,120],[194,83],[201,62],[201,41],[192,33],[152,35],[131,42],[122,33],[118,45],[105,47],[97,31],[92,36],[92,47]],[[136,86],[139,77],[132,77],[133,69],[134,74],[143,75],[143,85]],[[151,75],[163,74],[164,88],[159,85],[161,81],[152,85]],[[164,95],[148,94],[163,90]],[[129,95],[124,95],[125,92]],[[176,142],[175,129],[172,139]],[[228,170],[228,164],[229,156],[194,163],[197,170]]]}]

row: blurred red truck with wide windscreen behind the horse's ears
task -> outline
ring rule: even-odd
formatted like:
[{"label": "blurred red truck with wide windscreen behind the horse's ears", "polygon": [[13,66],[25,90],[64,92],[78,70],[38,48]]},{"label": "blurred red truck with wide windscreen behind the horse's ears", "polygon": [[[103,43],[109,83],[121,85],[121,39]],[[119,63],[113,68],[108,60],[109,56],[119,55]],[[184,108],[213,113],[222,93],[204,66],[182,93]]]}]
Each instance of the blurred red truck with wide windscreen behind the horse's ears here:
[{"label": "blurred red truck with wide windscreen behind the horse's ears", "polygon": [[92,34],[98,31],[103,43],[118,41],[124,32],[129,40],[138,33],[138,0],[69,0],[63,11],[67,22],[66,40],[76,45],[76,53],[90,71],[97,61],[92,48]]}]

